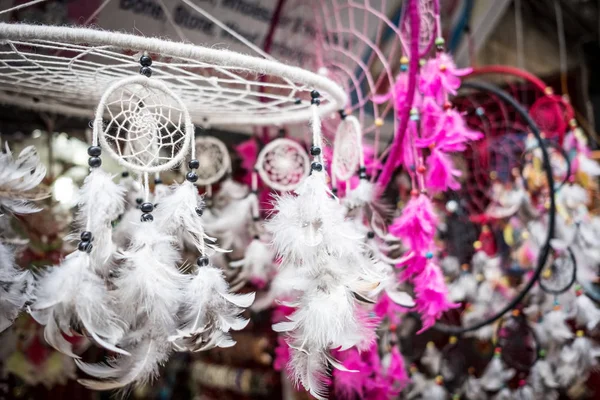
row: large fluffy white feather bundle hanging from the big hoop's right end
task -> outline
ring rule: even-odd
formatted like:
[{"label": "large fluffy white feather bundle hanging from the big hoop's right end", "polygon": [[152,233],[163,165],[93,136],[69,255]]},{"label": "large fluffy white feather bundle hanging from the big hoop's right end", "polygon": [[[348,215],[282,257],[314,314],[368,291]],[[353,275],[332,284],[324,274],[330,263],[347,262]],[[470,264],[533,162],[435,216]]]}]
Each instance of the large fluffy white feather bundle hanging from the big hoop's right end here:
[{"label": "large fluffy white feather bundle hanging from the big hoop's right end", "polygon": [[332,198],[324,173],[313,171],[295,192],[277,198],[267,229],[283,271],[300,272],[305,281],[291,304],[295,311],[273,329],[287,333],[295,381],[324,398],[327,364],[343,369],[330,351],[368,349],[374,340],[373,322],[357,299],[369,301],[366,295],[380,275],[363,254],[362,235]]}]

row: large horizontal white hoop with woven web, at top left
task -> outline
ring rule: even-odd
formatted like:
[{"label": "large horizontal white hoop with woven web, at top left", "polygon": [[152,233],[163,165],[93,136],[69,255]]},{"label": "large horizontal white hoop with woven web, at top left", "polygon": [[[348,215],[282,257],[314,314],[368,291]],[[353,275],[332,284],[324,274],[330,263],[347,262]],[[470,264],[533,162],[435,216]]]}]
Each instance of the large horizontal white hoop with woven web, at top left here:
[{"label": "large horizontal white hoop with woven web, at top left", "polygon": [[201,125],[304,122],[312,90],[321,94],[321,115],[347,101],[328,78],[277,61],[116,32],[6,23],[0,23],[0,99],[91,111],[106,87],[138,74],[144,52],[153,58],[152,78],[165,82]]}]

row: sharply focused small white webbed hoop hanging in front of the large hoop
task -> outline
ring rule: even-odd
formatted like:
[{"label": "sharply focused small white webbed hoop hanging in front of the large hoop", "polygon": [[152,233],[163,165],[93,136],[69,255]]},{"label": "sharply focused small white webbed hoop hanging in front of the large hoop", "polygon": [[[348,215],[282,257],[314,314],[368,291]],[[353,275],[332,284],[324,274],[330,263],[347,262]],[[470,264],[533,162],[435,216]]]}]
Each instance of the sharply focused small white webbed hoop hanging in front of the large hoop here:
[{"label": "sharply focused small white webbed hoop hanging in front of the large hoop", "polygon": [[158,79],[134,76],[115,82],[100,99],[92,144],[100,143],[125,168],[157,173],[181,163],[193,134],[187,108],[173,91]]}]

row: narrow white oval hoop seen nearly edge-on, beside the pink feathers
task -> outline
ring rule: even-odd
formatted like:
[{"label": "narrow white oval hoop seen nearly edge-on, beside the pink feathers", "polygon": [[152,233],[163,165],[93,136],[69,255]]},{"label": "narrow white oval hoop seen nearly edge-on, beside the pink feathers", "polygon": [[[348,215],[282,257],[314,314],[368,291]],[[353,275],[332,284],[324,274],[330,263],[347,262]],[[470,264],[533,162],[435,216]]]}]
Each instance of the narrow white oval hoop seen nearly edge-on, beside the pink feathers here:
[{"label": "narrow white oval hoop seen nearly edge-on, beside the pink feathers", "polygon": [[356,117],[350,115],[340,122],[335,133],[331,160],[332,178],[348,180],[358,171],[358,167],[363,165],[360,123]]}]

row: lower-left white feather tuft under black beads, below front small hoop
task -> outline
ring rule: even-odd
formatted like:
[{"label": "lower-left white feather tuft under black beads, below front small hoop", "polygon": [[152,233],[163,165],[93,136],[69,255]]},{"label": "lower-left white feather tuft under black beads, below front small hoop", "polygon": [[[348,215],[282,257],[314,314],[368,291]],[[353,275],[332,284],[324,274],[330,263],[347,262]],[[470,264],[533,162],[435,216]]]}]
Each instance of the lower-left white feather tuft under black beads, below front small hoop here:
[{"label": "lower-left white feather tuft under black beads, below front small hoop", "polygon": [[[51,338],[51,345],[60,342],[55,338],[59,336],[55,331],[58,323],[67,335],[73,328],[81,329],[98,344],[126,354],[114,346],[124,332],[123,322],[114,312],[115,299],[89,264],[88,254],[76,252],[68,255],[60,266],[42,272],[30,313],[40,324],[46,325],[49,331],[46,337]],[[61,351],[65,346],[59,344],[59,347],[57,350]]]}]

